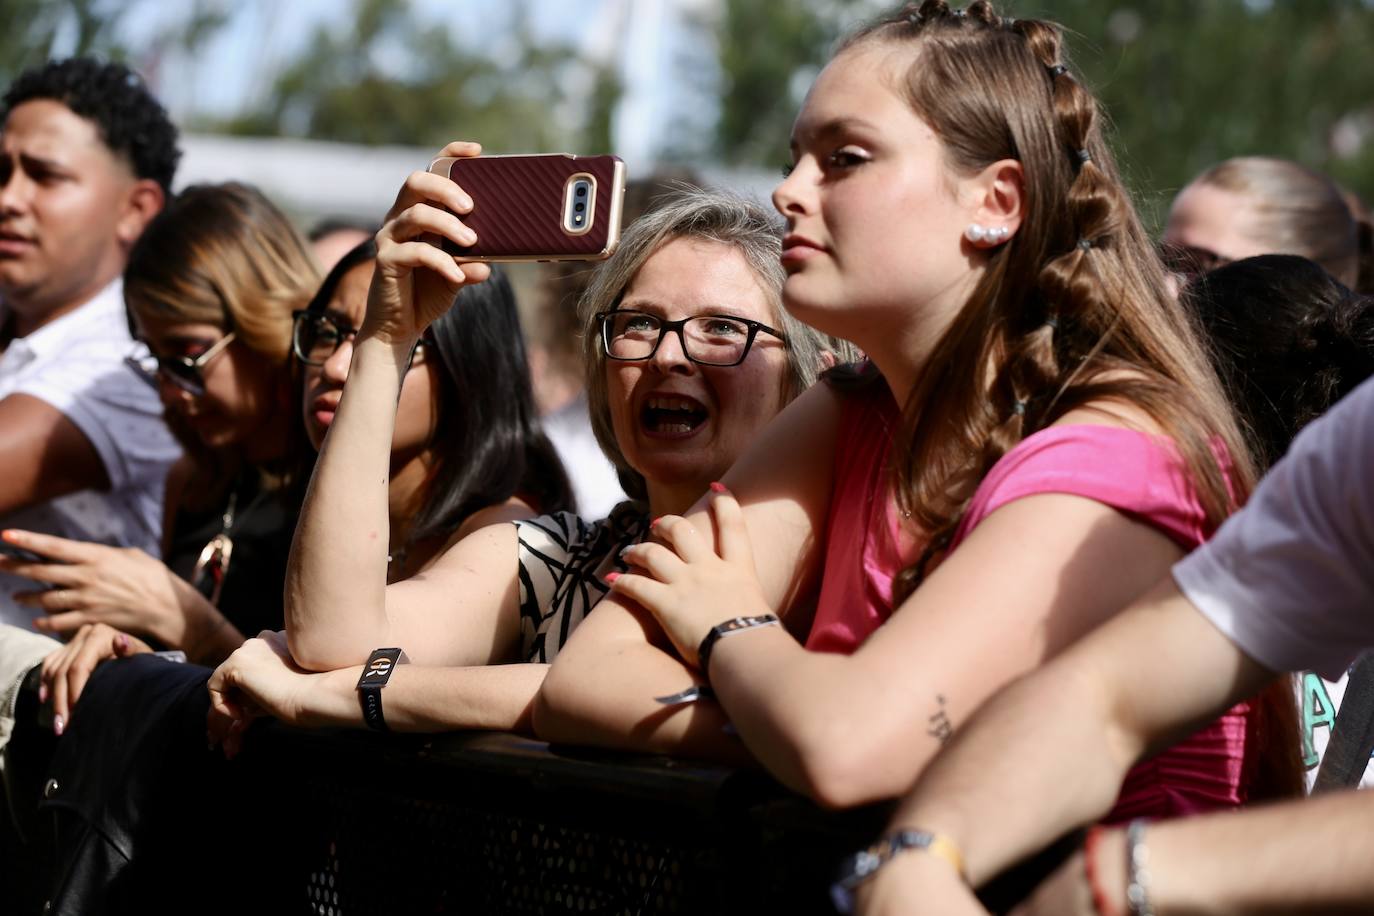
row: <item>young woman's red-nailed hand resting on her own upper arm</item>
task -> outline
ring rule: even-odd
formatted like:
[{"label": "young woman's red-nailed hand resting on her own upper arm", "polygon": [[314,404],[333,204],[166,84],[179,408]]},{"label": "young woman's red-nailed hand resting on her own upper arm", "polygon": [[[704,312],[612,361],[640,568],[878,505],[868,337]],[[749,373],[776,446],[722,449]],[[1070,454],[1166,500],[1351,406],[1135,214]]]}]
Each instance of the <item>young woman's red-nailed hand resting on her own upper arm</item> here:
[{"label": "young woman's red-nailed hand resting on her own upper arm", "polygon": [[638,602],[658,619],[679,655],[692,666],[698,663],[697,648],[710,628],[731,617],[772,611],[758,585],[739,503],[720,483],[712,483],[710,489],[719,553],[691,522],[665,515],[653,527],[662,544],[636,544],[622,553],[627,563],[644,574],[607,577],[613,591]]}]

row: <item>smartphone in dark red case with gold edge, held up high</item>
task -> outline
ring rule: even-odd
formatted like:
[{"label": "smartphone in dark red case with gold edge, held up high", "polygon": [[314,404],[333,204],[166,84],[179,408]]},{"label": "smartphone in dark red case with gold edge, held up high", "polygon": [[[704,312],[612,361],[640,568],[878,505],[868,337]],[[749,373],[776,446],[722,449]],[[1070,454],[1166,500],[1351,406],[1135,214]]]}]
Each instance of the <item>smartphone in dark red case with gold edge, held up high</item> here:
[{"label": "smartphone in dark red case with gold edge, held up high", "polygon": [[429,170],[452,179],[473,199],[463,222],[477,233],[477,244],[444,240],[444,250],[462,260],[599,261],[620,242],[620,157],[445,157]]}]

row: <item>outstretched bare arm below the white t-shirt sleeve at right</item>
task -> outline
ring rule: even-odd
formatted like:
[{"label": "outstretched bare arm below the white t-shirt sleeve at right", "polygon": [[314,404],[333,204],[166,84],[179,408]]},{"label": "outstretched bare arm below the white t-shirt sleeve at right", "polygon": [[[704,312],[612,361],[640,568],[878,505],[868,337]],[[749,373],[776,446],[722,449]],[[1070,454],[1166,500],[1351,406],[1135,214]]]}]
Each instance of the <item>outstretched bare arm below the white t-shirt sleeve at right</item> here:
[{"label": "outstretched bare arm below the white t-shirt sleeve at right", "polygon": [[[1184,737],[1272,678],[1167,578],[988,702],[932,762],[892,825],[954,839],[977,886],[1105,814],[1142,754]],[[903,856],[881,869],[861,891],[863,912],[944,913],[944,901],[966,901],[952,869],[927,858]]]}]

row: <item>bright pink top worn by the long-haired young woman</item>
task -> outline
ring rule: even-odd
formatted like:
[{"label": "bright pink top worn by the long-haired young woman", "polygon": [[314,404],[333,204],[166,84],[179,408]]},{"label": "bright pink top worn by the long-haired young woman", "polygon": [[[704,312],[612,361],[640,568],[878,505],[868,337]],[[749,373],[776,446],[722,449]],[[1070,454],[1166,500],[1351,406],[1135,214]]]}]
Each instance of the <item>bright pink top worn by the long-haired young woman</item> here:
[{"label": "bright pink top worn by the long-haired young woman", "polygon": [[[888,453],[900,417],[885,385],[844,400],[826,566],[807,648],[853,652],[893,611],[893,581],[919,553],[892,499]],[[1058,426],[1026,437],[974,492],[951,551],[993,511],[1036,493],[1069,493],[1151,525],[1190,551],[1210,536],[1176,452],[1145,433]],[[1249,705],[1242,703],[1135,766],[1107,823],[1176,817],[1243,801],[1241,772]],[[1065,707],[1063,714],[1072,714]]]}]

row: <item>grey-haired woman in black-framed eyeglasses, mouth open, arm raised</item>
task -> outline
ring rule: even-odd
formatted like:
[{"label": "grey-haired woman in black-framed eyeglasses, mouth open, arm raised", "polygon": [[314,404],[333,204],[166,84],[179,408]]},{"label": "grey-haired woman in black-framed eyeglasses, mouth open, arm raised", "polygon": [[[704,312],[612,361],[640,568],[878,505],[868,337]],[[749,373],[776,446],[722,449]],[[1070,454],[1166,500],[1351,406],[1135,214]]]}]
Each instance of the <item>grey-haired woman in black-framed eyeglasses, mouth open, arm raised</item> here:
[{"label": "grey-haired woman in black-framed eyeglasses, mouth open, arm raised", "polygon": [[[625,232],[578,308],[592,424],[635,499],[606,519],[497,520],[423,575],[386,585],[376,537],[385,508],[367,496],[385,472],[376,438],[396,415],[400,360],[422,339],[426,314],[442,313],[441,299],[463,286],[436,273],[429,244],[411,242],[452,233],[440,207],[460,209],[459,194],[448,179],[412,176],[378,236],[385,269],[352,368],[354,382],[368,380],[349,386],[331,415],[293,551],[286,633],[250,640],[210,681],[229,750],[242,729],[231,722],[254,713],[306,725],[526,731],[547,663],[625,569],[621,549],[643,540],[653,518],[701,497],[826,360],[822,335],[782,310],[775,221],[728,195],[668,201]],[[462,271],[473,282],[488,268]],[[385,713],[370,718],[356,684],[379,647],[400,647],[412,663],[394,669]]]}]

